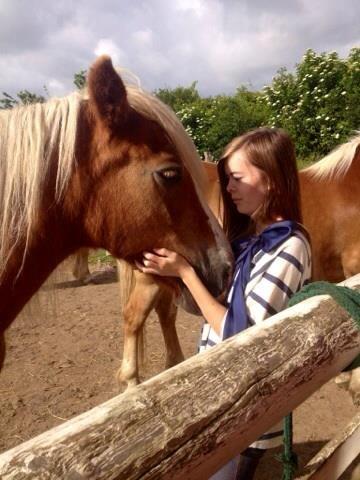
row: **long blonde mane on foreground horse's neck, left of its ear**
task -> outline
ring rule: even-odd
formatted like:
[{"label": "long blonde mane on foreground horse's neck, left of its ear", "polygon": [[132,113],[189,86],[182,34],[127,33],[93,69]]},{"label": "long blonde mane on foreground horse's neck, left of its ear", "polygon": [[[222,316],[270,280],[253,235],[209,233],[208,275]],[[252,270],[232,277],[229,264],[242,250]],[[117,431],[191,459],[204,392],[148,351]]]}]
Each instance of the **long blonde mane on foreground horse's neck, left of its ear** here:
[{"label": "long blonde mane on foreground horse's neck, left of its ear", "polygon": [[75,161],[80,102],[75,93],[0,113],[0,276],[20,239],[26,252],[54,161],[55,201],[64,192]]}]

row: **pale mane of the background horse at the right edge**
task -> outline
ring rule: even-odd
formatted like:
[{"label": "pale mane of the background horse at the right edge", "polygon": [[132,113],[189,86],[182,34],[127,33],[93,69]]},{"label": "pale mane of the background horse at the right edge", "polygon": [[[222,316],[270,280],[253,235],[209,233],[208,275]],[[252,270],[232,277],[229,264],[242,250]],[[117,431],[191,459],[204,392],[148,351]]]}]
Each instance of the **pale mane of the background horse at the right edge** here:
[{"label": "pale mane of the background horse at the right edge", "polygon": [[360,134],[340,145],[320,161],[307,167],[307,172],[315,180],[340,179],[346,175],[360,146]]}]

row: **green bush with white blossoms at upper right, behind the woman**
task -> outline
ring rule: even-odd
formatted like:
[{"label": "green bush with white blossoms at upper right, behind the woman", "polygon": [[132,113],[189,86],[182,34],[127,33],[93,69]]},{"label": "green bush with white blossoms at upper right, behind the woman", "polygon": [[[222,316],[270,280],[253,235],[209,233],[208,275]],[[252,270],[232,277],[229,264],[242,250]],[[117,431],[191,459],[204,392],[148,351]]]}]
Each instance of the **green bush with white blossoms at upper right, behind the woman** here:
[{"label": "green bush with white blossoms at upper right, behind the woman", "polygon": [[359,128],[360,49],[344,60],[307,50],[294,73],[277,73],[263,98],[270,123],[289,131],[300,156],[329,152]]}]

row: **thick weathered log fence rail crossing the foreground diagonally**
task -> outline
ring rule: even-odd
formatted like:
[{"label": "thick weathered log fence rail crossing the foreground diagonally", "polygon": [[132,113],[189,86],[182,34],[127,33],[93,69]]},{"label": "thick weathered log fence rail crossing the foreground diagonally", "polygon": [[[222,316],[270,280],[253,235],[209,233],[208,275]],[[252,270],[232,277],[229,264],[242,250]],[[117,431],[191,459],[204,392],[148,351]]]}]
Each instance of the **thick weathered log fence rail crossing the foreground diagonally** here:
[{"label": "thick weathered log fence rail crossing the foreground diagonally", "polygon": [[3,453],[0,478],[205,479],[359,353],[347,312],[314,297]]}]

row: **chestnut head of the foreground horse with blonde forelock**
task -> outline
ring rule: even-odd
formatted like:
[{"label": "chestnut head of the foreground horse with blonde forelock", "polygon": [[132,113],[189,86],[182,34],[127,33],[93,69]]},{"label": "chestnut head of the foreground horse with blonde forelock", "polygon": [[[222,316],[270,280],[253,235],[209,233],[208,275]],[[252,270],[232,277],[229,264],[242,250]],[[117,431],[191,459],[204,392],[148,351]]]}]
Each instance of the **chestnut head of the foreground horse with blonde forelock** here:
[{"label": "chestnut head of the foreground horse with blonde forelock", "polygon": [[83,225],[82,243],[130,263],[153,248],[175,250],[213,295],[223,293],[230,248],[204,200],[201,160],[175,114],[126,87],[111,60],[100,57],[80,115],[66,208]]}]

